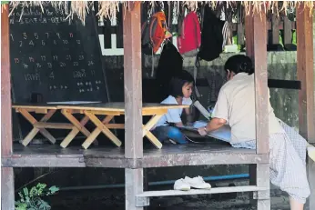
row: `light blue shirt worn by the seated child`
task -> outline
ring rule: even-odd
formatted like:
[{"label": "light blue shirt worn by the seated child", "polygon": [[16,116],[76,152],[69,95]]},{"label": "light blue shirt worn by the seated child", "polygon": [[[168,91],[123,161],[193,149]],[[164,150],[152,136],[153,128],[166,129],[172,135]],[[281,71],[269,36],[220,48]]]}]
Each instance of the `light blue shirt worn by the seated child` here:
[{"label": "light blue shirt worn by the seated child", "polygon": [[[164,99],[161,102],[162,105],[178,105],[178,102],[176,101],[176,98],[172,95],[169,95],[166,99]],[[191,98],[185,98],[183,97],[182,105],[191,105],[192,100]],[[158,126],[166,126],[168,123],[180,123],[181,122],[181,114],[183,113],[183,108],[178,109],[168,109],[168,113],[166,115],[163,115],[156,125]]]}]

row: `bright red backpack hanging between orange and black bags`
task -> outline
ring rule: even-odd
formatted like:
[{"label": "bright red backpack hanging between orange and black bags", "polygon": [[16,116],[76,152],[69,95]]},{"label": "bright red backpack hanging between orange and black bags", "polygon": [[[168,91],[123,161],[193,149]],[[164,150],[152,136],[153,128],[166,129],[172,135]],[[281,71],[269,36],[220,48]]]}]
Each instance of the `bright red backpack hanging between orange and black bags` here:
[{"label": "bright red backpack hanging between orange and black bags", "polygon": [[178,51],[181,55],[194,57],[198,54],[201,45],[201,31],[198,16],[190,12],[185,16],[178,36]]}]

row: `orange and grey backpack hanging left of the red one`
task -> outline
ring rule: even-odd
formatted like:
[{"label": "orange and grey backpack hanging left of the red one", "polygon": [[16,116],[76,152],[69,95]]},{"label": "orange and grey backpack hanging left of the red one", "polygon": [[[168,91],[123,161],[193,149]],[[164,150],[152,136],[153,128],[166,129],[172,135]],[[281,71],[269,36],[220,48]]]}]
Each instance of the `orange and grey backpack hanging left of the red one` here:
[{"label": "orange and grey backpack hanging left of the red one", "polygon": [[166,38],[167,30],[167,19],[164,12],[152,15],[141,28],[143,52],[156,54]]}]

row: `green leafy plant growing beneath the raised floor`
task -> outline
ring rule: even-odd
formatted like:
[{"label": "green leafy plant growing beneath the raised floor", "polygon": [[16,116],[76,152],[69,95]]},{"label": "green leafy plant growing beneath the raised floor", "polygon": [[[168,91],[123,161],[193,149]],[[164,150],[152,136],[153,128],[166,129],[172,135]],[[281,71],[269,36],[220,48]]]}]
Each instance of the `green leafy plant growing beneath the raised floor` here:
[{"label": "green leafy plant growing beneath the raised floor", "polygon": [[46,184],[38,183],[30,190],[24,187],[18,192],[20,199],[15,201],[15,210],[50,210],[51,206],[42,197],[56,194],[59,188],[51,186],[47,189],[46,186]]}]

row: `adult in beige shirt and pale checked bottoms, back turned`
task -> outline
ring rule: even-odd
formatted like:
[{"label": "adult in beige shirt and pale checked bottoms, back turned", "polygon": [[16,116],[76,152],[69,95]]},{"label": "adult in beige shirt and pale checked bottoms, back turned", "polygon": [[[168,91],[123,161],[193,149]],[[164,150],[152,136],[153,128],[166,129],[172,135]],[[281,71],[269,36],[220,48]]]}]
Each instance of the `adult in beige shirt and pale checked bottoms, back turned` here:
[{"label": "adult in beige shirt and pale checked bottoms, back turned", "polygon": [[[255,82],[252,62],[248,56],[234,55],[228,59],[224,68],[229,81],[220,89],[213,118],[198,132],[207,135],[228,123],[232,146],[255,149]],[[286,131],[288,128],[279,123],[269,103],[270,180],[290,195],[291,210],[302,210],[310,195],[305,166],[307,143],[305,139],[294,137],[297,135],[287,134]]]}]

